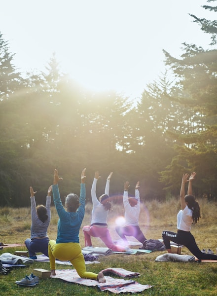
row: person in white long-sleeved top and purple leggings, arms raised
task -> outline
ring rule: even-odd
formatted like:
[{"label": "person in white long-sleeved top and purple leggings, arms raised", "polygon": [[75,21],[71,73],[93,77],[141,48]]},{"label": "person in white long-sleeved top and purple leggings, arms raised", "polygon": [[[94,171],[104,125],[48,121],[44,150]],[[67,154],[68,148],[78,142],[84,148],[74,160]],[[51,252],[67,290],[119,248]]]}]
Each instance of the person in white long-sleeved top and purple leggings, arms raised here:
[{"label": "person in white long-sleeved top and purple leggings, arms raised", "polygon": [[127,245],[126,236],[133,236],[142,244],[146,238],[139,226],[140,216],[140,182],[137,182],[135,187],[135,197],[128,197],[129,182],[124,183],[123,203],[125,209],[125,224],[123,226],[116,226],[117,234],[123,239]]}]

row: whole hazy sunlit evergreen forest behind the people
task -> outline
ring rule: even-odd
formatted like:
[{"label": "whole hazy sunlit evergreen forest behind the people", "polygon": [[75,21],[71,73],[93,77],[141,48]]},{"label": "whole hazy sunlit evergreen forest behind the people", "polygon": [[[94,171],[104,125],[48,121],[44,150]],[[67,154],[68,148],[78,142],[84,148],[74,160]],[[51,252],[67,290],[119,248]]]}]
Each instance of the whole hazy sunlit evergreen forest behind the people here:
[{"label": "whole hazy sunlit evergreen forest behind the people", "polygon": [[117,203],[125,181],[131,194],[140,181],[142,200],[170,199],[191,171],[195,196],[216,200],[217,21],[191,16],[210,34],[210,49],[183,43],[180,59],[164,50],[165,73],[140,101],[82,88],[60,72],[55,54],[45,71],[19,73],[0,33],[0,206],[29,205],[30,186],[42,203],[54,168],[63,177],[62,197],[79,194],[84,167],[87,201],[95,171],[99,192],[113,171]]}]

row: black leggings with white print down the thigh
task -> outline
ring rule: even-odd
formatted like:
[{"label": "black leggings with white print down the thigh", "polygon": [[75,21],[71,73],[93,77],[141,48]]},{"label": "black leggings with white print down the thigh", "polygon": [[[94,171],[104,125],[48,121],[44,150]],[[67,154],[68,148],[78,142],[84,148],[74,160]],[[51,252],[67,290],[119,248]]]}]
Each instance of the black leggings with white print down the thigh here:
[{"label": "black leggings with white print down the thigh", "polygon": [[198,248],[194,236],[190,231],[178,230],[178,233],[172,231],[163,231],[162,238],[166,249],[171,249],[170,241],[179,245],[184,245],[197,259],[217,260],[217,255],[205,254]]}]

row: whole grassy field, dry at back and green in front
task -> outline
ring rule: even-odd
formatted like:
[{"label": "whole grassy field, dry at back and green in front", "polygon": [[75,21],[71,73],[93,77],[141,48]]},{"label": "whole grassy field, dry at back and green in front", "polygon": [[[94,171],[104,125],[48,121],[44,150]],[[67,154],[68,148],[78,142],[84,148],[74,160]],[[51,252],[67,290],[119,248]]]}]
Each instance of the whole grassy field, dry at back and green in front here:
[{"label": "whole grassy field, dry at back and green in front", "polygon": [[[192,234],[200,249],[217,248],[217,203],[199,200],[201,206],[201,220],[192,226]],[[86,206],[83,225],[90,223],[92,205]],[[142,205],[140,226],[147,239],[161,238],[163,230],[176,231],[177,212],[180,209],[179,199],[159,203],[156,200]],[[48,228],[50,239],[56,239],[58,216],[55,208],[51,209],[52,218]],[[113,239],[119,237],[115,233],[115,219],[123,215],[122,205],[114,206],[109,213],[109,229]],[[30,237],[31,213],[30,208],[1,208],[0,209],[0,242],[4,244],[23,244]],[[81,226],[81,227],[82,227]],[[131,238],[129,238],[131,240]],[[104,247],[103,243],[93,238],[93,246]],[[84,246],[83,232],[80,230],[80,244]],[[136,247],[138,248],[138,247]],[[5,252],[14,254],[15,251],[26,251],[25,247],[4,248]],[[208,296],[217,295],[217,263],[180,263],[180,262],[155,262],[158,255],[164,252],[152,252],[143,255],[112,254],[100,257],[99,264],[86,265],[87,270],[98,273],[109,267],[120,267],[133,272],[139,272],[140,277],[135,278],[142,285],[153,285],[152,288],[134,295],[165,295],[165,296]],[[182,255],[191,255],[186,248],[182,248]],[[98,288],[86,287],[64,282],[60,279],[40,279],[39,285],[33,288],[20,287],[15,284],[25,275],[32,273],[33,268],[50,269],[49,263],[34,262],[22,269],[13,269],[10,274],[0,275],[0,295],[5,296],[95,296],[112,295],[101,292]],[[68,269],[69,265],[56,265],[57,269]],[[115,277],[115,276],[114,276]],[[121,294],[120,294],[121,295]],[[125,294],[131,295],[131,294]]]}]

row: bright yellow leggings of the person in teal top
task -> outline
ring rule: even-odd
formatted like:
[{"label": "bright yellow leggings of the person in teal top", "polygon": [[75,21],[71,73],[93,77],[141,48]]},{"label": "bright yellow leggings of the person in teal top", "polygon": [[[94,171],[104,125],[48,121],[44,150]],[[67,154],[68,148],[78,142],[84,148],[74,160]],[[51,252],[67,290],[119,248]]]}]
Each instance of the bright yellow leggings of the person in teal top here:
[{"label": "bright yellow leggings of the person in teal top", "polygon": [[50,240],[48,244],[50,269],[55,269],[55,259],[70,261],[81,278],[97,280],[97,274],[86,271],[85,261],[79,243],[56,244]]}]

